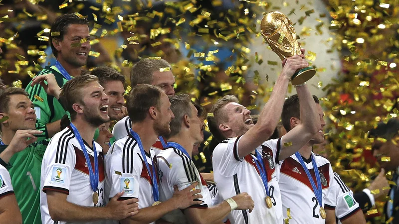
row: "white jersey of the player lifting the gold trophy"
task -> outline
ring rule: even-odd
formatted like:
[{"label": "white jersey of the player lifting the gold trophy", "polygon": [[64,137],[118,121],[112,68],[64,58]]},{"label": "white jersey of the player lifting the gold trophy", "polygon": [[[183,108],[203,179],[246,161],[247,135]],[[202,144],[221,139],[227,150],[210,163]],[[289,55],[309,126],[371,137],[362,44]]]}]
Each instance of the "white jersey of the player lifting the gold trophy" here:
[{"label": "white jersey of the player lifting the gold trophy", "polygon": [[213,151],[213,175],[218,193],[223,199],[247,192],[253,199],[255,207],[251,213],[247,210],[234,210],[228,220],[231,224],[282,224],[282,207],[280,188],[278,186],[280,166],[278,155],[281,149],[281,138],[265,141],[256,148],[262,153],[266,169],[269,194],[273,206],[266,207],[266,190],[256,167],[256,156],[238,157],[240,137],[224,140]]}]

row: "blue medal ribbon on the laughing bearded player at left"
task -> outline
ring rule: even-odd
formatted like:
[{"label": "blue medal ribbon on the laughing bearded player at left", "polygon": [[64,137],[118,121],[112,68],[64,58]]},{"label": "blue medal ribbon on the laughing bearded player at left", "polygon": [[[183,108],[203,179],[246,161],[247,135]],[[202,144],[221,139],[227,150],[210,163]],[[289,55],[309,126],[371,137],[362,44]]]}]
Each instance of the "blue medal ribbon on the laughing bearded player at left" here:
[{"label": "blue medal ribbon on the laughing bearded player at left", "polygon": [[96,192],[97,187],[98,187],[98,158],[97,158],[96,145],[94,144],[94,140],[93,140],[93,152],[94,152],[94,156],[93,156],[94,157],[94,172],[93,172],[93,168],[91,167],[90,157],[89,157],[89,154],[87,153],[86,146],[83,143],[83,139],[80,136],[78,129],[76,129],[75,125],[73,125],[72,122],[71,122],[71,127],[73,130],[73,133],[76,136],[76,139],[79,142],[80,147],[82,148],[84,158],[86,159],[87,168],[89,169],[91,189],[93,190],[93,192]]}]

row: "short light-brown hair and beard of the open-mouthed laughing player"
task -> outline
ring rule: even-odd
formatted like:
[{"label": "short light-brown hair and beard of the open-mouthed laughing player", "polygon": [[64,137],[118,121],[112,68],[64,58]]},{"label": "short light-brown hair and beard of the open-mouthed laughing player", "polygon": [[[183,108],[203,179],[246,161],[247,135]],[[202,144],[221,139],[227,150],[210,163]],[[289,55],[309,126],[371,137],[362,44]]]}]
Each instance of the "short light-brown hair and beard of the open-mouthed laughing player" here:
[{"label": "short light-brown hair and beard of the open-mouthed laughing player", "polygon": [[84,88],[88,83],[98,82],[98,78],[93,75],[77,76],[61,88],[59,100],[64,108],[71,114],[71,120],[76,118],[76,112],[73,110],[72,105],[76,103],[83,104],[82,93],[80,89]]}]

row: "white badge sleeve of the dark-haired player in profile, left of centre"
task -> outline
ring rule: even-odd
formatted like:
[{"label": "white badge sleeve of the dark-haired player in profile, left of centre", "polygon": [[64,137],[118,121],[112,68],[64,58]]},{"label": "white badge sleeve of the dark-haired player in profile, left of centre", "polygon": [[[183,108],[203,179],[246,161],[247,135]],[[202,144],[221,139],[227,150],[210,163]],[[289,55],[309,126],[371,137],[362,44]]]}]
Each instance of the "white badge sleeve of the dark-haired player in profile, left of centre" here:
[{"label": "white badge sleeve of the dark-haired player in profile, left of centre", "polygon": [[[109,166],[106,168],[111,178],[111,189],[109,198],[114,197],[120,192],[124,192],[119,200],[126,200],[130,198],[139,198],[140,188],[140,174],[142,170],[142,163],[135,158],[131,157],[133,149],[126,151],[123,157],[123,148],[120,148],[120,142],[114,144],[113,153],[109,156]],[[133,160],[132,160],[133,158]],[[141,168],[140,168],[141,167]]]}]

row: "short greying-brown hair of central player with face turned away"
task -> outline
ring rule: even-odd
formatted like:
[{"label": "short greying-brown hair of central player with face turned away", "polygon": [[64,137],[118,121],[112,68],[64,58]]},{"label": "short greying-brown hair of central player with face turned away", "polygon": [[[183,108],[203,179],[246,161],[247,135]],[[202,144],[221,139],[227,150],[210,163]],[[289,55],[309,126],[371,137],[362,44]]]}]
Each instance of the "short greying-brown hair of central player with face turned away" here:
[{"label": "short greying-brown hair of central player with face turned away", "polygon": [[171,121],[171,133],[165,135],[166,138],[170,138],[179,134],[182,129],[182,122],[184,115],[191,117],[191,100],[187,94],[178,94],[175,96],[169,96],[169,102],[171,102],[171,110],[175,114],[175,118]]}]

